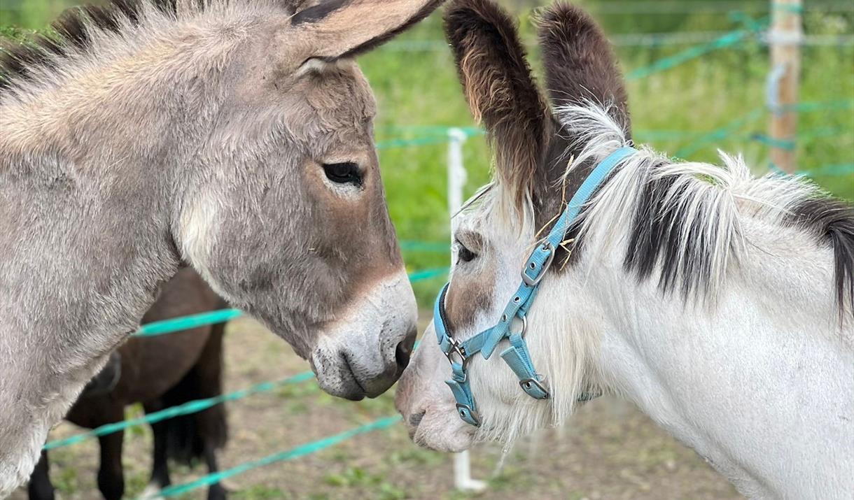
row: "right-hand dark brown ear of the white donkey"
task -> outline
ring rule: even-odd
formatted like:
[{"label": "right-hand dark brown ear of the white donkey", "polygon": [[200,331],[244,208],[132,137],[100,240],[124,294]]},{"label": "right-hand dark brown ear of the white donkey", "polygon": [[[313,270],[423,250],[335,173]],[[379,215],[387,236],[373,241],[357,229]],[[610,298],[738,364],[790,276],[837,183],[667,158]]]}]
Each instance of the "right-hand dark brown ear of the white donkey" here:
[{"label": "right-hand dark brown ear of the white donkey", "polygon": [[623,75],[599,25],[582,9],[556,3],[542,11],[540,44],[549,95],[556,106],[596,102],[629,133]]}]

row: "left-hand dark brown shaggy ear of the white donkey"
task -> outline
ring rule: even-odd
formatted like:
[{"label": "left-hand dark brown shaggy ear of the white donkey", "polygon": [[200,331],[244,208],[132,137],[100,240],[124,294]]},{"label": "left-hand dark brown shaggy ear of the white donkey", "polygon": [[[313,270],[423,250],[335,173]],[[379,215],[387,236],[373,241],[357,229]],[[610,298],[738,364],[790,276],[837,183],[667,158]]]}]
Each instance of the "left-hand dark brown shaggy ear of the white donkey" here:
[{"label": "left-hand dark brown shaggy ear of the white donkey", "polygon": [[445,34],[471,113],[492,142],[499,180],[521,206],[539,183],[552,118],[516,25],[488,0],[457,0],[445,13]]}]

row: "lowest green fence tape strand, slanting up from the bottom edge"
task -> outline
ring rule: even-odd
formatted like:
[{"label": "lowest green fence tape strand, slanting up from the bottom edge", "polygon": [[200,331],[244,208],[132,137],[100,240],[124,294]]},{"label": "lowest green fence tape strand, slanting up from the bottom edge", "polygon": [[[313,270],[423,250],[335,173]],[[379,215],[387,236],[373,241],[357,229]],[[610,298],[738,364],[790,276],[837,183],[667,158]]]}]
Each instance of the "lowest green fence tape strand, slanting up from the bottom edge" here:
[{"label": "lowest green fence tape strand, slanting up from the bottom edge", "polygon": [[352,439],[355,436],[358,436],[359,434],[371,433],[374,431],[382,430],[391,427],[400,421],[401,416],[387,416],[377,421],[367,423],[359,427],[354,427],[348,431],[336,434],[334,436],[330,436],[328,438],[318,439],[317,441],[312,441],[311,443],[306,443],[305,445],[299,445],[295,448],[291,448],[288,451],[280,451],[278,453],[273,453],[272,455],[268,455],[257,460],[243,462],[233,468],[228,468],[217,473],[202,476],[201,478],[195,481],[190,481],[189,483],[184,483],[183,485],[167,486],[160,492],[155,493],[150,497],[140,497],[139,500],[150,500],[151,498],[156,498],[158,496],[175,497],[178,495],[182,495],[187,491],[193,491],[198,488],[202,488],[203,486],[213,485],[214,483],[218,483],[221,480],[234,477],[238,474],[243,474],[244,472],[247,472],[254,468],[265,467],[267,465],[271,465],[272,463],[285,462],[288,460],[294,460],[295,458],[300,458],[301,456],[307,456],[313,453],[317,453],[318,451],[325,450],[330,446],[337,445],[342,441]]}]

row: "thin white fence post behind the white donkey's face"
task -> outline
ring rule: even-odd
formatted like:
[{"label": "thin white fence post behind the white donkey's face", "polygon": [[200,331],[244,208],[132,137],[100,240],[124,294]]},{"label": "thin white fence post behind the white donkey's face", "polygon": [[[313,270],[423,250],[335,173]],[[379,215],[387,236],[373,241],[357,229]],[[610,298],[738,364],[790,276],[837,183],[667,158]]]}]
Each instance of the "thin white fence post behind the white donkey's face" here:
[{"label": "thin white fence post behind the white donkey's face", "polygon": [[[447,210],[451,216],[451,242],[456,225],[453,216],[463,206],[463,188],[465,187],[465,166],[463,165],[463,143],[468,135],[462,129],[447,131],[450,142],[447,144]],[[453,262],[453,250],[451,261]],[[486,483],[471,479],[471,460],[469,452],[453,454],[453,485],[458,490],[483,491]]]}]

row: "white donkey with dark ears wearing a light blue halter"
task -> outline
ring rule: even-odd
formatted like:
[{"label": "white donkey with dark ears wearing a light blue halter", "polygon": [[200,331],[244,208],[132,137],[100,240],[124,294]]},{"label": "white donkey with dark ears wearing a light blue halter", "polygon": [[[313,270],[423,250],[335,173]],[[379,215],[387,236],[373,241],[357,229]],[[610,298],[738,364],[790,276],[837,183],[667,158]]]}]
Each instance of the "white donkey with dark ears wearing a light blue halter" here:
[{"label": "white donkey with dark ears wearing a light blue halter", "polygon": [[453,3],[446,29],[497,175],[401,378],[412,439],[510,440],[610,392],[748,497],[854,497],[851,206],[725,155],[630,148],[622,78],[580,9],[540,20],[554,111],[493,3]]}]

